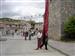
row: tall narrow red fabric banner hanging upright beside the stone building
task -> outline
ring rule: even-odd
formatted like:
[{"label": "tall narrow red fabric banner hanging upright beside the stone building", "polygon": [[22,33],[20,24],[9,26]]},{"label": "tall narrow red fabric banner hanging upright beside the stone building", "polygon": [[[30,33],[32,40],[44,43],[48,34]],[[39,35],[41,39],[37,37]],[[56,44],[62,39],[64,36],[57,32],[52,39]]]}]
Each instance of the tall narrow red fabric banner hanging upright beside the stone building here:
[{"label": "tall narrow red fabric banner hanging upright beside the stone building", "polygon": [[44,14],[44,27],[43,27],[43,33],[45,35],[48,32],[48,15],[49,15],[49,1],[45,0],[45,14]]}]

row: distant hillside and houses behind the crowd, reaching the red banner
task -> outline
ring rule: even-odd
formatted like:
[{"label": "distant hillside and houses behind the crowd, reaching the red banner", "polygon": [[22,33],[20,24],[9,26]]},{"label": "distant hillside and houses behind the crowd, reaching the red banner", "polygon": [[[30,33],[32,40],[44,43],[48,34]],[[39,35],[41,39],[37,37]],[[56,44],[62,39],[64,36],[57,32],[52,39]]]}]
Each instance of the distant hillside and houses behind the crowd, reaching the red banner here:
[{"label": "distant hillside and houses behind the crowd, reaching the red banner", "polygon": [[[38,22],[38,23],[34,22],[33,24],[34,24],[33,30],[35,30],[36,28],[38,28],[38,30],[43,30],[43,22]],[[11,34],[12,32],[15,31],[26,32],[29,31],[31,28],[32,24],[30,21],[13,20],[9,18],[0,19],[0,32],[2,33],[2,35]]]}]

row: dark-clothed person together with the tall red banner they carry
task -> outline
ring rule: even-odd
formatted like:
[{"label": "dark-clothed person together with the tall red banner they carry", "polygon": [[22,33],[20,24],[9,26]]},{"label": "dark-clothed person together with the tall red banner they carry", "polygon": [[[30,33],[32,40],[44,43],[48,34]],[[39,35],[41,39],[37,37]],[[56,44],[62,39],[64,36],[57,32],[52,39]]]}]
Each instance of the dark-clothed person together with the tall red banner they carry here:
[{"label": "dark-clothed person together with the tall red banner they carry", "polygon": [[44,14],[44,27],[43,27],[43,35],[42,35],[42,44],[40,48],[45,45],[45,49],[48,50],[48,17],[49,17],[49,0],[45,0],[45,14]]}]

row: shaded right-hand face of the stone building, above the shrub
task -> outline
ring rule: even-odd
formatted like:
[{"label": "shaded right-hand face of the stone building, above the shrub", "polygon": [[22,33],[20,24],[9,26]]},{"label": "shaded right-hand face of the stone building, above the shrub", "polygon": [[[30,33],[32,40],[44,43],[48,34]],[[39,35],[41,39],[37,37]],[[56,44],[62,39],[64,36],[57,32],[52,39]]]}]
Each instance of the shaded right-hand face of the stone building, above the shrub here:
[{"label": "shaded right-hand face of the stone building, above the shrub", "polygon": [[75,16],[75,0],[61,0],[61,34],[63,34],[64,21],[69,16]]}]

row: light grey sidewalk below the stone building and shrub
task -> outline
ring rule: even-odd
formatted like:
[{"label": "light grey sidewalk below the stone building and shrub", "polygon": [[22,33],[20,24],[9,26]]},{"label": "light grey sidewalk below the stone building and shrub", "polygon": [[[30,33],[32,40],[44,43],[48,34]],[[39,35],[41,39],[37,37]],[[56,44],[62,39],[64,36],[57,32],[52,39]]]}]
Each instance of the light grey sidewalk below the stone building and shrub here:
[{"label": "light grey sidewalk below the stone building and shrub", "polygon": [[49,46],[66,54],[66,56],[75,56],[75,43],[66,43],[60,41],[49,40]]}]

